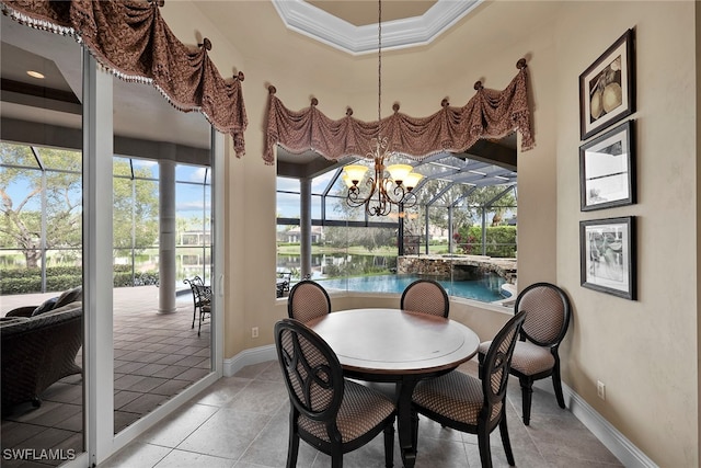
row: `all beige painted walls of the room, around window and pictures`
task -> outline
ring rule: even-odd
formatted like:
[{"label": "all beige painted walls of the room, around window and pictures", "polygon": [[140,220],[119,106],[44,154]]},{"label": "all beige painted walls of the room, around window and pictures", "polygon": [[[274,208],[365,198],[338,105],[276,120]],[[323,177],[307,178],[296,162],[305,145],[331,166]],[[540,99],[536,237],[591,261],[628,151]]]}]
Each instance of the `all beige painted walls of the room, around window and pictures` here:
[{"label": "all beige painted walls of the room, around window and pictures", "polygon": [[[343,116],[350,105],[355,116],[370,119],[377,62],[287,31],[275,33],[280,20],[269,2],[228,3],[241,13],[226,19],[229,27],[241,18],[255,18],[256,24],[267,19],[261,26],[265,36],[256,38],[244,24],[248,43],[234,46],[216,39],[214,26],[189,2],[168,2],[162,11],[179,37],[203,31],[212,38],[220,70],[235,67],[246,76],[246,156],[230,156],[226,168],[225,357],[232,357],[271,344],[275,321],[286,315],[268,286],[275,270],[275,168],[261,159],[266,87],[275,84],[290,109],[308,106],[314,95],[331,117]],[[691,1],[497,1],[430,46],[383,59],[383,114],[399,101],[402,112],[425,116],[446,96],[452,105],[464,104],[476,80],[504,88],[516,75],[516,60],[528,58],[537,147],[519,155],[519,285],[551,281],[567,290],[575,310],[563,345],[566,385],[655,463],[669,467],[699,463],[694,18]],[[639,203],[585,214],[578,198],[578,76],[633,26]],[[272,34],[285,41],[269,54],[248,50],[246,44],[254,49]],[[636,301],[579,286],[579,220],[625,215],[639,218]],[[367,299],[334,298],[334,308],[366,305]],[[499,312],[462,304],[451,310],[481,336],[504,320]],[[258,339],[250,338],[251,327],[260,328]],[[606,401],[596,396],[597,379],[607,386]]]}]

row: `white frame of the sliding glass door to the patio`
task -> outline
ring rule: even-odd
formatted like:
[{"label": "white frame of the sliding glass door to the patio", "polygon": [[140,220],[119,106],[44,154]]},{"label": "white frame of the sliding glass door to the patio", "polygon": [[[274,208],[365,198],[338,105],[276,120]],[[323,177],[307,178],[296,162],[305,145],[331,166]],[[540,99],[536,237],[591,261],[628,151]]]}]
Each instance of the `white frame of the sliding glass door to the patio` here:
[{"label": "white frame of the sliding glass door to the patio", "polygon": [[[204,117],[203,117],[204,118]],[[104,461],[223,375],[223,135],[211,129],[212,317],[210,373],[114,434],[113,76],[83,49],[83,380],[85,452],[67,466]]]}]

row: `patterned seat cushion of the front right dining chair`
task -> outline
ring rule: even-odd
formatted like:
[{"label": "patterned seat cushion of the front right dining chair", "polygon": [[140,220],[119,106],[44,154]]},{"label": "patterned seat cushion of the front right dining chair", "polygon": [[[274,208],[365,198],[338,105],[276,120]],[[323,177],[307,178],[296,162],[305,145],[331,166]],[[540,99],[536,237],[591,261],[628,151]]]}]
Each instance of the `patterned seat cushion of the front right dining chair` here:
[{"label": "patterned seat cushion of the front right dining chair", "polygon": [[[437,378],[422,380],[412,396],[414,404],[452,421],[476,425],[484,403],[482,381],[452,370]],[[502,403],[494,406],[492,420],[499,415]]]}]

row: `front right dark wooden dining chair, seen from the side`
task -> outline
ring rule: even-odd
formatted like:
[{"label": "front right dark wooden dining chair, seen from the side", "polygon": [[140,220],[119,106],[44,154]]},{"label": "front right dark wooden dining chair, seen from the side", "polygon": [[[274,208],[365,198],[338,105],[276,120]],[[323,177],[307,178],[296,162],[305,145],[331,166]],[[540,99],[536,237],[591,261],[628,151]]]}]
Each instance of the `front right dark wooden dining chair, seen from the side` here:
[{"label": "front right dark wooden dining chair, seen from the side", "polygon": [[412,396],[414,446],[418,443],[417,413],[456,431],[476,434],[483,468],[492,467],[490,434],[499,427],[506,460],[515,465],[506,425],[506,384],[518,332],[526,312],[517,313],[499,330],[480,369],[480,378],[452,370],[422,380]]}]

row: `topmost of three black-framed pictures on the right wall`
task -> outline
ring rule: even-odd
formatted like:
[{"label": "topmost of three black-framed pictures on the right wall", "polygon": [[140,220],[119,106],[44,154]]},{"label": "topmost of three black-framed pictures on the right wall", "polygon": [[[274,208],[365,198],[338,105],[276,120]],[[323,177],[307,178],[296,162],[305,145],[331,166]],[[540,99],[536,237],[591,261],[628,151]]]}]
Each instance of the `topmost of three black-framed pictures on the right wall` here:
[{"label": "topmost of three black-framed pictures on the right wall", "polygon": [[633,30],[579,75],[579,126],[585,140],[635,111]]}]

